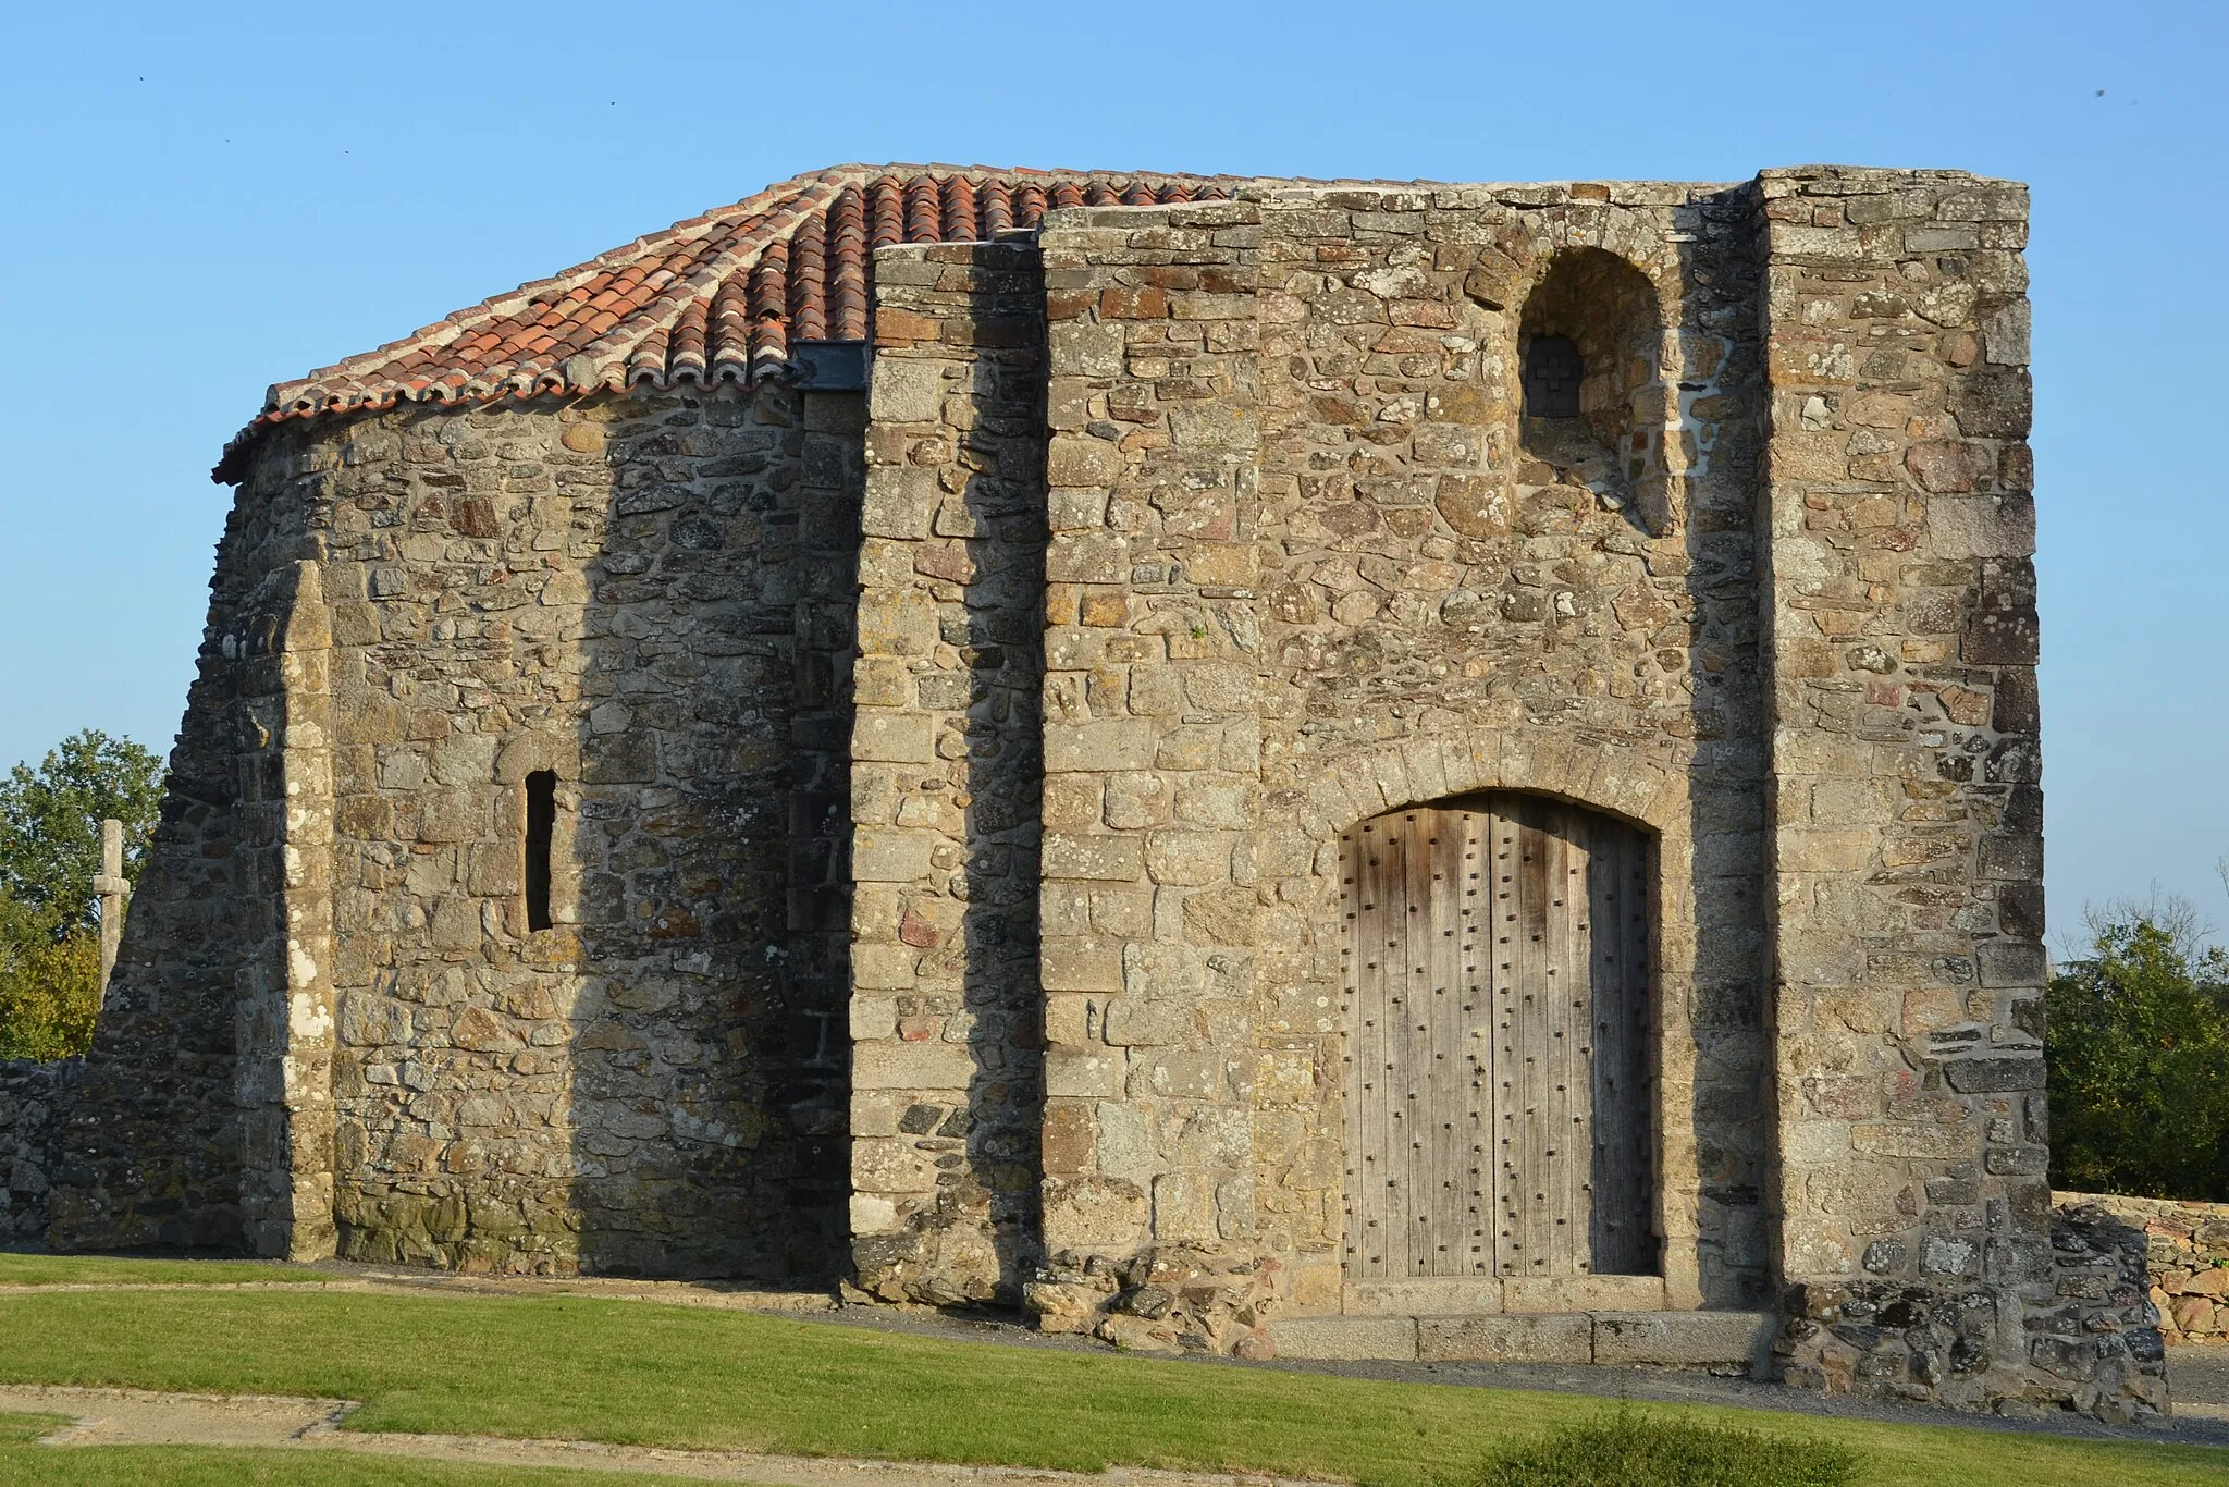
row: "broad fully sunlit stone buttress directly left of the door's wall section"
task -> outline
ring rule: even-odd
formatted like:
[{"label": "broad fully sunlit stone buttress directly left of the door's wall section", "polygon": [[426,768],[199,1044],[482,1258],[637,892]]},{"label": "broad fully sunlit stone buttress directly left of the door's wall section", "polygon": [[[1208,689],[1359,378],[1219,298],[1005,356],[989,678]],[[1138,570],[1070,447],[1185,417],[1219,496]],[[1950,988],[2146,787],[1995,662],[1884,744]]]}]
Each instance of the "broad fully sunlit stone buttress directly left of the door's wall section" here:
[{"label": "broad fully sunlit stone buttress directly left of the door's wall section", "polygon": [[[1257,221],[1070,210],[1041,234],[1048,1326],[1092,1326],[1121,1286],[1259,1280]],[[1244,1315],[1135,1311],[1097,1324],[1228,1349]]]}]

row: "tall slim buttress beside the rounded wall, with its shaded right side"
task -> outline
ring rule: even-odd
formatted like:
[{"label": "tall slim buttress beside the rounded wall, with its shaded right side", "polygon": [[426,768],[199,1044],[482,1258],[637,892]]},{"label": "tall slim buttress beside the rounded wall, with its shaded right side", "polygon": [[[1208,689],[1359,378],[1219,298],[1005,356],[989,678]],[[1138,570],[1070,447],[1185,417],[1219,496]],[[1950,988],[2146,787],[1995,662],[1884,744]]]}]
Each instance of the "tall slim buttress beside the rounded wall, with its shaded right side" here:
[{"label": "tall slim buttress beside the rounded wall, with its shaded right side", "polygon": [[851,1246],[885,1300],[1021,1300],[1039,1240],[1043,281],[885,247],[860,540]]}]

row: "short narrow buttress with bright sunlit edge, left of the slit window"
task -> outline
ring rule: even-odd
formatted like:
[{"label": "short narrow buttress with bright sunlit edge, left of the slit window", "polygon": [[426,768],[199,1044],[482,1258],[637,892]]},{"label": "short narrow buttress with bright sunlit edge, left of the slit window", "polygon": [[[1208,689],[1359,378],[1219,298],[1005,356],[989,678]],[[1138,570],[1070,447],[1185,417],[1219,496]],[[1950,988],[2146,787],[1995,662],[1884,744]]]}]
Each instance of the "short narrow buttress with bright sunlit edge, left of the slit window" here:
[{"label": "short narrow buttress with bright sunlit edge, left of the slit window", "polygon": [[332,1255],[332,622],[317,562],[274,575],[241,671],[241,1233],[256,1255]]}]

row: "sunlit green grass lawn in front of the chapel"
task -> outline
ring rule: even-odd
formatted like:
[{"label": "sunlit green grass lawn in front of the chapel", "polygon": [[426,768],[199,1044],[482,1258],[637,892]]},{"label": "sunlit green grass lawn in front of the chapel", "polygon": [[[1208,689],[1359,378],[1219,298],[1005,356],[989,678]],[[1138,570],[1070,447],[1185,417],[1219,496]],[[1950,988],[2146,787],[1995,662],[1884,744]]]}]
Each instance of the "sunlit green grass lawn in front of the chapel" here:
[{"label": "sunlit green grass lawn in front of the chapel", "polygon": [[[1487,1456],[1600,1400],[1201,1367],[1097,1351],[952,1342],[829,1322],[593,1298],[345,1291],[0,1293],[0,1382],[125,1384],[366,1400],[354,1429],[542,1436],[889,1456],[1092,1471],[1110,1462],[1257,1469],[1386,1487],[1473,1483]],[[1649,1407],[1812,1436],[1863,1458],[1861,1483],[2019,1487],[2225,1480],[2229,1451],[2006,1436],[1736,1409]],[[65,1469],[18,1447],[0,1462]],[[69,1471],[105,1471],[94,1451]],[[194,1460],[212,1454],[194,1454]],[[239,1456],[239,1454],[234,1454]],[[256,1454],[247,1454],[256,1456]],[[74,1458],[78,1460],[78,1458]],[[181,1458],[183,1460],[183,1458]],[[267,1458],[261,1458],[267,1460]],[[325,1458],[321,1456],[319,1462]],[[330,1480],[406,1480],[359,1458]],[[301,1478],[308,1465],[283,1456]],[[412,1471],[439,1471],[410,1467]],[[210,1467],[210,1480],[259,1480]],[[475,1469],[477,1471],[477,1469]],[[0,1471],[7,1476],[7,1471]],[[118,1467],[114,1480],[125,1480]],[[145,1480],[198,1480],[132,1471]],[[515,1480],[562,1480],[513,1474]],[[13,1480],[13,1478],[11,1478]],[[452,1476],[408,1480],[510,1480]]]}]

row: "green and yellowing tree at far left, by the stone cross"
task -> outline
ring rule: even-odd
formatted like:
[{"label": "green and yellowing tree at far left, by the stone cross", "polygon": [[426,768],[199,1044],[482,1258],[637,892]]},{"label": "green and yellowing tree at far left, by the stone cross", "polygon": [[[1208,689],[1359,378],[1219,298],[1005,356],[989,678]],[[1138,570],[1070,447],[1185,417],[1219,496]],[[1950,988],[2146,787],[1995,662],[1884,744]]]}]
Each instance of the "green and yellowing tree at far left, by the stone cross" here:
[{"label": "green and yellowing tree at far left, by the stone cross", "polygon": [[0,1059],[67,1059],[91,1046],[100,820],[125,823],[125,878],[138,881],[160,800],[160,760],[96,729],[0,780]]}]

